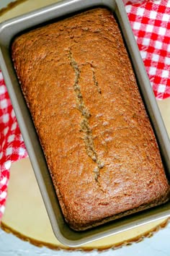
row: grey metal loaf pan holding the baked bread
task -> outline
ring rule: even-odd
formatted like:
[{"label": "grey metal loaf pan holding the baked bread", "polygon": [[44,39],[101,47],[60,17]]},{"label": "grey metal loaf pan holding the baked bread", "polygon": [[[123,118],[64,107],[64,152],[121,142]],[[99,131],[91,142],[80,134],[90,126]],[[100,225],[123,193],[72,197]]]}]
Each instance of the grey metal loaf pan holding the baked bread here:
[{"label": "grey metal loaf pan holding the baked bread", "polygon": [[146,74],[146,69],[143,66],[138,46],[135,43],[135,38],[128,22],[128,17],[122,0],[60,1],[57,4],[2,22],[0,25],[0,65],[6,82],[6,87],[9,91],[12,105],[14,106],[14,111],[17,116],[25,145],[27,146],[27,151],[30,155],[30,161],[32,162],[32,167],[35,171],[37,183],[39,184],[40,192],[45,202],[45,207],[47,209],[54,234],[61,243],[66,244],[69,247],[80,246],[81,244],[102,239],[105,236],[117,234],[136,226],[143,225],[144,223],[170,216],[170,202],[166,202],[164,205],[160,205],[140,213],[135,213],[131,216],[126,216],[125,218],[120,218],[94,229],[89,229],[87,231],[73,231],[64,221],[61,208],[58,205],[58,198],[55,194],[53,182],[50,178],[50,173],[45,162],[42,148],[40,147],[40,142],[38,140],[34,124],[32,123],[30,111],[26,106],[14,71],[10,56],[10,46],[12,39],[24,30],[30,30],[32,27],[42,25],[45,22],[53,22],[54,19],[61,19],[67,15],[70,16],[76,12],[83,12],[86,9],[94,7],[109,8],[117,17],[130,54],[140,92],[158,140],[166,174],[170,180],[169,137],[164,127],[164,122],[161,119],[161,114],[158,110],[158,106]]}]

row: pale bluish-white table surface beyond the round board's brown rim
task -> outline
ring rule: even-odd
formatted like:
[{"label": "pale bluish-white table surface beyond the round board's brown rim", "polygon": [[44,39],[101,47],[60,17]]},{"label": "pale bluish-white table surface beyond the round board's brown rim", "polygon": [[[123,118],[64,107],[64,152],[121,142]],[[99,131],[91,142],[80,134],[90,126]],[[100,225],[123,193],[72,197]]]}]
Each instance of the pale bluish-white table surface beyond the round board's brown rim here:
[{"label": "pale bluish-white table surface beyond the round board's brown rim", "polygon": [[[0,0],[0,8],[12,0]],[[14,1],[14,0],[13,0]],[[43,1],[43,0],[35,0]],[[18,239],[13,234],[6,234],[0,229],[0,256],[169,256],[170,255],[170,224],[165,229],[161,229],[151,238],[146,238],[138,244],[132,244],[121,249],[107,250],[105,252],[66,252],[63,250],[54,251],[46,247],[35,247],[29,242]]]}]

